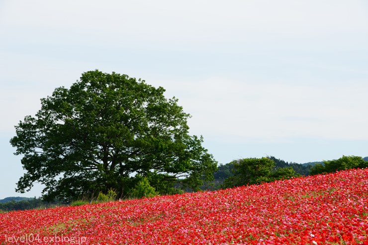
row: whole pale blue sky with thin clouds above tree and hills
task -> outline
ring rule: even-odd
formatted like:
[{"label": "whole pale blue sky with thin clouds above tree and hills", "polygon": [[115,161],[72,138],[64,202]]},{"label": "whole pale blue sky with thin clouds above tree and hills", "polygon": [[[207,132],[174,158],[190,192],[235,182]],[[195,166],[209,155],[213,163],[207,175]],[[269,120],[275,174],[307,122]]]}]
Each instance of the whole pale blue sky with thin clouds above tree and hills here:
[{"label": "whole pale blue sky with thin clouds above tree and hills", "polygon": [[166,89],[218,163],[368,156],[366,0],[0,0],[0,199],[14,126],[98,69]]}]

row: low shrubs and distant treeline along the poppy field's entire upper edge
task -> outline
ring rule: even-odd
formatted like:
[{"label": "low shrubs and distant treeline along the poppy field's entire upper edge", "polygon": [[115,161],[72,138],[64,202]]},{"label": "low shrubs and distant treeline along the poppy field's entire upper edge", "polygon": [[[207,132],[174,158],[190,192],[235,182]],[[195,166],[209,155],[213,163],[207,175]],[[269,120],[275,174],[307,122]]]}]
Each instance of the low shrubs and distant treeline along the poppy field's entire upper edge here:
[{"label": "low shrubs and distant treeline along the poppy field's entire upper edge", "polygon": [[[220,164],[214,172],[214,181],[204,181],[205,184],[201,186],[201,190],[217,190],[223,188],[231,188],[234,186],[261,184],[281,179],[289,179],[301,175],[324,174],[345,170],[350,168],[365,168],[368,167],[368,157],[343,156],[337,160],[323,161],[320,163],[288,163],[275,157],[264,158],[246,158],[234,160],[227,164]],[[183,193],[181,186],[176,186],[174,183],[168,184],[163,181],[162,177],[155,172],[147,177],[135,176],[136,183],[129,192],[130,195],[123,198],[141,198],[152,197],[163,194],[177,194]],[[199,190],[199,189],[198,189]],[[193,191],[185,190],[184,191]],[[93,203],[99,201],[111,201],[119,199],[116,193],[111,189],[111,193],[104,195],[98,193],[98,197],[93,195],[88,198],[82,198],[77,202],[65,202],[65,200],[55,200],[54,202],[46,202],[41,198],[28,198],[24,200],[15,201],[14,199],[0,203],[0,211],[12,210],[26,210],[35,208],[48,208],[55,205],[82,205],[86,203]],[[105,197],[105,198],[102,198]]]}]

